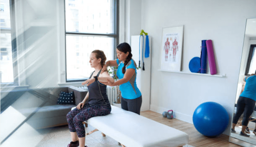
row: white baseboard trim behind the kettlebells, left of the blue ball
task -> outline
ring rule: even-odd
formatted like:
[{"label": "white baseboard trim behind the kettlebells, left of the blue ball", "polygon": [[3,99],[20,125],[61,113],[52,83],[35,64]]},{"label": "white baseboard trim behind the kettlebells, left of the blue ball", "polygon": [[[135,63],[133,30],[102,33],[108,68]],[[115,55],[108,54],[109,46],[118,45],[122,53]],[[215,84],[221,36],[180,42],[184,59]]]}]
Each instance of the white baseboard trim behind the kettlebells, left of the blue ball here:
[{"label": "white baseboard trim behind the kettlebells, left of the blue ball", "polygon": [[[150,105],[150,110],[160,114],[162,114],[164,111],[168,111],[168,109],[166,108],[155,106],[155,105]],[[173,117],[178,120],[193,124],[193,116],[189,116],[187,114],[183,114],[173,110]]]}]

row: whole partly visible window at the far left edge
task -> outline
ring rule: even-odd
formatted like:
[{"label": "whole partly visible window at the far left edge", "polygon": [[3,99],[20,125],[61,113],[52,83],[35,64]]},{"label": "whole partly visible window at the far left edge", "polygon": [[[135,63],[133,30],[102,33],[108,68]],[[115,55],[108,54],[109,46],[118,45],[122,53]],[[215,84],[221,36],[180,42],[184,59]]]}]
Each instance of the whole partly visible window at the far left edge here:
[{"label": "whole partly visible window at the far left edge", "polygon": [[[11,2],[11,3],[10,3]],[[1,86],[18,85],[16,38],[13,6],[14,0],[1,0],[1,42],[0,42],[0,82]],[[10,7],[12,6],[12,7]]]}]

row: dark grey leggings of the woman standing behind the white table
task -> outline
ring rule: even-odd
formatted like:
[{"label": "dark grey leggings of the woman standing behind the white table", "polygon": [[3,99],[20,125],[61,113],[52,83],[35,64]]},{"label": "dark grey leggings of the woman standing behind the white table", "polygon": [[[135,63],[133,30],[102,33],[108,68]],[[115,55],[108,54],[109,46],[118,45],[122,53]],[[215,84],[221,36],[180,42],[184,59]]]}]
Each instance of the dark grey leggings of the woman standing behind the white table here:
[{"label": "dark grey leggings of the woman standing behind the white table", "polygon": [[136,99],[124,99],[121,97],[121,108],[140,115],[142,96]]}]

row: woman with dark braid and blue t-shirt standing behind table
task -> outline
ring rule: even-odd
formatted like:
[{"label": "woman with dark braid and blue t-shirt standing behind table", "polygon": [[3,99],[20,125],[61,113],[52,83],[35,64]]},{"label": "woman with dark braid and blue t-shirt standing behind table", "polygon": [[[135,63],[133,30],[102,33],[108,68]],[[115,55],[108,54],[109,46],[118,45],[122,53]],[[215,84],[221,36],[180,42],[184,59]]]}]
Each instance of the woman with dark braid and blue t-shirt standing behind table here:
[{"label": "woman with dark braid and blue t-shirt standing behind table", "polygon": [[126,43],[120,43],[116,47],[116,60],[109,60],[102,67],[101,72],[107,70],[107,66],[117,68],[116,75],[119,80],[111,83],[110,81],[102,83],[108,86],[120,85],[121,91],[121,108],[140,115],[142,96],[136,84],[137,65],[132,59],[131,46]]}]

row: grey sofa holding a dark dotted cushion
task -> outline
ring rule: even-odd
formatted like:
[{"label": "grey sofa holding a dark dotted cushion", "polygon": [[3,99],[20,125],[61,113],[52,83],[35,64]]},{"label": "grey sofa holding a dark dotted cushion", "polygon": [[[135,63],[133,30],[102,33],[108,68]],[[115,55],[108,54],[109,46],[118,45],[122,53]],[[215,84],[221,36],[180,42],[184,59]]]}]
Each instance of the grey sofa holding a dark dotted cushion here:
[{"label": "grey sofa holding a dark dotted cushion", "polygon": [[[58,105],[57,100],[61,91],[66,93],[74,91],[76,105]],[[2,100],[12,100],[13,103],[10,106],[26,117],[21,123],[28,123],[35,129],[48,128],[67,124],[67,113],[72,107],[77,106],[86,94],[87,91],[74,86],[1,91],[1,97],[4,96],[1,98],[1,107],[4,103]],[[9,101],[6,101],[5,104]]]}]

